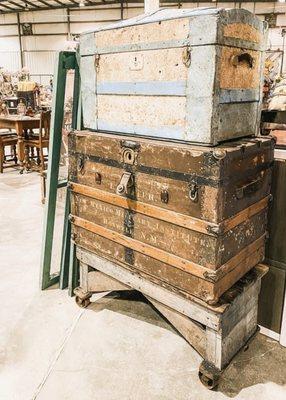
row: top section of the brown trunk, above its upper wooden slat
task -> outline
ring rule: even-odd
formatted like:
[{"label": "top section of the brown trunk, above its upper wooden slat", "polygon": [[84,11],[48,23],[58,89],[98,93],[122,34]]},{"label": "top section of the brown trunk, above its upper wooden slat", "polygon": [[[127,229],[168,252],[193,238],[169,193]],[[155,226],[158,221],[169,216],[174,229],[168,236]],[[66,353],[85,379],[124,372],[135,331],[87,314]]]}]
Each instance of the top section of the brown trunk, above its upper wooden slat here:
[{"label": "top section of the brown trunk, above its upper wooden slat", "polygon": [[[70,135],[70,174],[74,177],[71,180],[115,194],[126,169],[122,156],[126,140],[124,136],[95,132]],[[269,138],[243,140],[211,149],[146,139],[130,141],[138,147],[132,172],[136,200],[142,203],[219,223],[270,192],[273,143]],[[80,155],[84,159],[81,173],[77,171]],[[100,186],[95,183],[96,173],[101,175]],[[189,198],[192,177],[197,179],[197,202]],[[255,181],[259,182],[256,190],[237,198],[237,189]],[[169,192],[167,204],[161,201],[162,190]]]}]

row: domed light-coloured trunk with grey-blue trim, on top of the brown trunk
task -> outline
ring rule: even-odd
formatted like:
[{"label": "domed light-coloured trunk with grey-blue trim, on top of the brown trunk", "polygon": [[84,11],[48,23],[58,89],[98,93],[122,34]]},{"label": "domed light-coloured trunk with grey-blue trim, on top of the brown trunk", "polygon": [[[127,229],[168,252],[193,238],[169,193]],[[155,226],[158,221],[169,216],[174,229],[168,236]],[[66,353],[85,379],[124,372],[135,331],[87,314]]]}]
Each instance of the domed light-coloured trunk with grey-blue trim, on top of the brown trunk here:
[{"label": "domed light-coloured trunk with grey-blue trim, on top of the brown trunk", "polygon": [[84,127],[208,145],[256,135],[264,44],[243,9],[162,9],[82,34]]}]

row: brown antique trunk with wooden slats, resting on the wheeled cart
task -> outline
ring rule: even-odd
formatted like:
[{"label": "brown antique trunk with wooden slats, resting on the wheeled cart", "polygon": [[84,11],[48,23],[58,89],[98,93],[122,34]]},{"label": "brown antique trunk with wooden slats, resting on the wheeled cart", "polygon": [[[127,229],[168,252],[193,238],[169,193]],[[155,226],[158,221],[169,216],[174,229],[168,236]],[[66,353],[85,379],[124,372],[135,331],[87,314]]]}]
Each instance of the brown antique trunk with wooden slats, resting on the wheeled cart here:
[{"label": "brown antique trunk with wooden slats, resting on the wheeled cart", "polygon": [[75,242],[216,302],[263,259],[273,143],[209,148],[74,132]]}]

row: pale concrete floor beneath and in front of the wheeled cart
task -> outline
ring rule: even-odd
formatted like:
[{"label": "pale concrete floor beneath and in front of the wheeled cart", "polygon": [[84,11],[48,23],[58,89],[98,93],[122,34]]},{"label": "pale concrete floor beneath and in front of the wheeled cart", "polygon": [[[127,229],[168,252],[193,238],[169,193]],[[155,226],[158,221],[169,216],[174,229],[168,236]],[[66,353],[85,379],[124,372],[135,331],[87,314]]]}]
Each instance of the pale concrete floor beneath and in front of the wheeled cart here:
[{"label": "pale concrete floor beneath and in front of the wheeled cart", "polygon": [[216,392],[200,356],[142,299],[79,309],[39,290],[39,176],[0,175],[0,400],[257,400],[286,398],[286,348],[258,335]]}]

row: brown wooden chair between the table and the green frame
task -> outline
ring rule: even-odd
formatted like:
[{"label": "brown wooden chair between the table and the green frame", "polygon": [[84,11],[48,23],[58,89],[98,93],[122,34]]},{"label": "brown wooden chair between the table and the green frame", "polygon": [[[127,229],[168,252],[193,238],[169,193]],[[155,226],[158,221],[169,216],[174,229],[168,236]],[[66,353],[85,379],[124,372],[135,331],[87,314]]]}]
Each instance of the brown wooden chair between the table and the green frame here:
[{"label": "brown wooden chair between the table and the green frame", "polygon": [[[27,135],[24,140],[25,147],[25,168],[26,170],[34,169],[41,174],[45,170],[45,161],[47,157],[44,155],[44,149],[49,148],[51,125],[51,111],[42,111],[40,118],[39,134]],[[35,161],[34,149],[36,149],[37,157]]]}]

